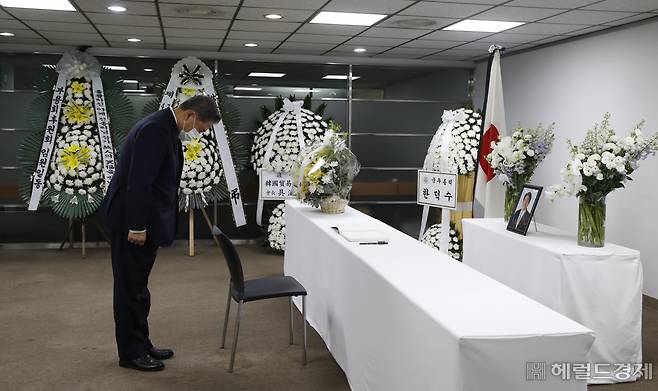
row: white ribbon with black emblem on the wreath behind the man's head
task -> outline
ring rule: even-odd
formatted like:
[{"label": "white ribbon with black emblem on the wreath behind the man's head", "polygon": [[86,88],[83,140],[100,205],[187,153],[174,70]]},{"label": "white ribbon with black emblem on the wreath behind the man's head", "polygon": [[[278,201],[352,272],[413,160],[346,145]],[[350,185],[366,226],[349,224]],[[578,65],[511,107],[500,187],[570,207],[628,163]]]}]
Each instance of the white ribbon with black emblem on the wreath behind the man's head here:
[{"label": "white ribbon with black emblem on the wreath behind the man's head", "polygon": [[[194,66],[194,69],[190,71],[189,66]],[[197,86],[194,86],[194,84]],[[174,68],[171,71],[171,78],[169,79],[169,83],[167,83],[167,89],[165,90],[164,95],[162,96],[162,101],[160,102],[160,110],[172,106],[176,98],[176,90],[179,87],[201,88],[210,97],[215,100],[217,99],[217,92],[215,91],[215,86],[212,82],[212,72],[210,71],[210,68],[196,57],[185,57],[174,65]],[[235,165],[229,148],[224,121],[220,120],[219,123],[213,125],[212,129],[219,148],[219,158],[222,161],[222,168],[224,171],[224,177],[226,178],[226,186],[228,188],[229,201],[231,203],[235,225],[236,227],[241,227],[247,224],[247,220],[244,214],[242,194],[240,193],[238,176],[235,172]]]}]

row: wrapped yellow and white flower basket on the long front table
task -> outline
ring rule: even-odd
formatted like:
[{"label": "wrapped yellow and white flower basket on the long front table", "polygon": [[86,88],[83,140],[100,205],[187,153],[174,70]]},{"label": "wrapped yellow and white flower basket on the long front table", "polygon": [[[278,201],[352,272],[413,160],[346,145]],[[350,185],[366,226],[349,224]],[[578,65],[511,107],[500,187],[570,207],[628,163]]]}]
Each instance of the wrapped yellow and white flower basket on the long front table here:
[{"label": "wrapped yellow and white flower basket on the long front table", "polygon": [[297,198],[324,213],[343,213],[352,190],[352,181],[361,165],[331,124],[322,143],[308,148],[298,160],[294,179]]}]

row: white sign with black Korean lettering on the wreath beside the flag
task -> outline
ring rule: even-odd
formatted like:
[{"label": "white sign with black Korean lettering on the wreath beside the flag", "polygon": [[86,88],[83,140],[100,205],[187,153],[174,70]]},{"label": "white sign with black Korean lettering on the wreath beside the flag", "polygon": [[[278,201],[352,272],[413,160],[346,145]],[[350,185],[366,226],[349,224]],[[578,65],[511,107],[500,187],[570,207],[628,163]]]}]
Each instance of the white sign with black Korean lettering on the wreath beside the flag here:
[{"label": "white sign with black Korean lettering on the wreath beside the flag", "polygon": [[418,170],[418,192],[416,202],[419,205],[437,208],[457,208],[457,174]]}]

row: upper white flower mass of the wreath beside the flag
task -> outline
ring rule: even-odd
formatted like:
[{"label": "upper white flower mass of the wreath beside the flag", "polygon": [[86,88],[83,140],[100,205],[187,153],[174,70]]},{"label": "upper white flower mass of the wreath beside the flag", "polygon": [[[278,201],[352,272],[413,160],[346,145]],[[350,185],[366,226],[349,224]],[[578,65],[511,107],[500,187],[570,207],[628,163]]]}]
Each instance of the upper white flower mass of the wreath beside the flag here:
[{"label": "upper white flower mass of the wreath beside the flag", "polygon": [[[477,167],[482,117],[469,109],[458,109],[452,112],[455,124],[452,128],[452,139],[448,146],[448,170],[457,174],[468,175]],[[439,170],[442,145],[435,150],[434,170]]]}]

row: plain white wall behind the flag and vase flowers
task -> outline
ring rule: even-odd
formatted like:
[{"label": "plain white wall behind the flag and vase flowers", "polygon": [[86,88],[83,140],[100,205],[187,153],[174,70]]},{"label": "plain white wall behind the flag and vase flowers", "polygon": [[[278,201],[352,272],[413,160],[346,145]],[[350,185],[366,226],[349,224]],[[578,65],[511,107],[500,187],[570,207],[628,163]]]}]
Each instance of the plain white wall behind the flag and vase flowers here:
[{"label": "plain white wall behind the flag and vase flowers", "polygon": [[[658,21],[630,25],[518,55],[503,56],[507,126],[556,123],[553,153],[533,182],[559,183],[569,158],[566,139],[580,142],[606,111],[626,135],[646,120],[645,134],[658,130]],[[476,69],[475,103],[482,105],[486,63]],[[658,156],[641,162],[626,189],[608,196],[607,240],[641,251],[644,292],[658,298]],[[542,200],[537,219],[576,233],[576,198]]]}]

